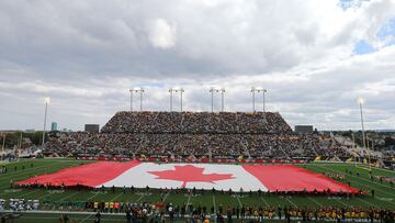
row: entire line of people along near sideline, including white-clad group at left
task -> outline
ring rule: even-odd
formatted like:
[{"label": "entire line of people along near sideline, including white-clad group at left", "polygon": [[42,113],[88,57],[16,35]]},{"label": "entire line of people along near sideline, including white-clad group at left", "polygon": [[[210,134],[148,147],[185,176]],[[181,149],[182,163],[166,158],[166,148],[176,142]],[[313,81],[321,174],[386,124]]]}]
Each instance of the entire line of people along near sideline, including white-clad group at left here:
[{"label": "entire line of people along near sideline, including white-clad group at left", "polygon": [[[44,201],[43,205],[47,207],[56,201]],[[0,211],[5,210],[7,201],[0,199]],[[38,210],[38,200],[25,199],[9,199],[8,205],[13,211],[29,211]],[[394,210],[385,210],[379,208],[341,208],[341,207],[217,207],[211,205],[193,205],[192,203],[184,203],[182,205],[173,205],[172,203],[156,202],[156,203],[137,203],[137,202],[119,202],[119,201],[87,201],[87,202],[64,202],[61,205],[78,205],[80,210],[111,212],[111,213],[126,213],[129,218],[149,218],[160,216],[163,213],[170,218],[183,218],[184,215],[206,216],[210,214],[221,214],[235,219],[245,218],[266,218],[266,219],[291,219],[298,218],[303,220],[336,220],[336,219],[352,219],[352,220],[394,220]]]}]

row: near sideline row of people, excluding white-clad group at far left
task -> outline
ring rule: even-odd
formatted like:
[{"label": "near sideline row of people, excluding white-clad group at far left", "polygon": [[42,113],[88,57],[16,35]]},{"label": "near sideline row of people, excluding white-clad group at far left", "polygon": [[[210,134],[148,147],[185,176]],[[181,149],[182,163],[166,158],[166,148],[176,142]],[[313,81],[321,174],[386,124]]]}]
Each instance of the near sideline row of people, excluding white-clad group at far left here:
[{"label": "near sideline row of people, excluding white-clad group at far left", "polygon": [[380,208],[358,207],[251,207],[251,205],[193,205],[192,203],[177,205],[172,203],[136,203],[136,202],[87,202],[86,210],[106,213],[125,213],[127,220],[160,220],[163,215],[168,218],[185,218],[205,220],[207,216],[217,218],[219,222],[225,219],[280,219],[280,220],[354,220],[354,221],[394,221],[394,210]]}]

